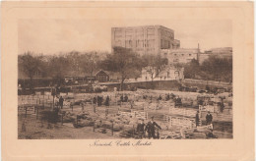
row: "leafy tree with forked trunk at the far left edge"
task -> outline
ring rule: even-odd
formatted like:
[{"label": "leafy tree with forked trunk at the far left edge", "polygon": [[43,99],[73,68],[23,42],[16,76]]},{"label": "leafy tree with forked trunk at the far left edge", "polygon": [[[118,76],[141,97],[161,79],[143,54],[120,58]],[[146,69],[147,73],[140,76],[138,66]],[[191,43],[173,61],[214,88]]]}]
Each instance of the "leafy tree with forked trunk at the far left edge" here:
[{"label": "leafy tree with forked trunk at the far left edge", "polygon": [[34,53],[28,51],[23,55],[18,56],[18,68],[23,71],[30,78],[30,88],[33,88],[33,77],[36,72],[43,72],[43,61],[42,55],[35,55]]}]

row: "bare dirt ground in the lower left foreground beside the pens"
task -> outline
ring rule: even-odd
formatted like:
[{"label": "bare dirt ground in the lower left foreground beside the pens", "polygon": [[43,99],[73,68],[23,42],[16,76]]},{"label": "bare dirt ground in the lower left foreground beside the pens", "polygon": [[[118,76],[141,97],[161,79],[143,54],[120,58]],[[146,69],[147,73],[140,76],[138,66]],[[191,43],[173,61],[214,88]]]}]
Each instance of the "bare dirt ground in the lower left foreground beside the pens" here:
[{"label": "bare dirt ground in the lower left foreground beside the pens", "polygon": [[[46,122],[35,121],[34,118],[28,117],[27,119],[21,119],[19,117],[18,125],[18,138],[19,139],[111,139],[117,138],[112,136],[110,132],[106,134],[100,134],[94,132],[92,127],[84,127],[80,129],[73,128],[72,124],[60,123],[56,125],[50,125]],[[26,132],[23,132],[23,123],[26,125]]]}]

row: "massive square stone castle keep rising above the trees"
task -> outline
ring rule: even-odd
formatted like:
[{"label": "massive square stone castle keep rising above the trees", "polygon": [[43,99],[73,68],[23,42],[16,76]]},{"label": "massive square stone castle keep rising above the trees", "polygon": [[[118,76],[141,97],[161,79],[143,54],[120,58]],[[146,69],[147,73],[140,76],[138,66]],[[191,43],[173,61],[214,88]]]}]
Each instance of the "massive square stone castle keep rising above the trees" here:
[{"label": "massive square stone castle keep rising above the trees", "polygon": [[160,54],[161,49],[177,49],[174,30],[162,26],[112,27],[111,46],[131,48],[139,54]]}]

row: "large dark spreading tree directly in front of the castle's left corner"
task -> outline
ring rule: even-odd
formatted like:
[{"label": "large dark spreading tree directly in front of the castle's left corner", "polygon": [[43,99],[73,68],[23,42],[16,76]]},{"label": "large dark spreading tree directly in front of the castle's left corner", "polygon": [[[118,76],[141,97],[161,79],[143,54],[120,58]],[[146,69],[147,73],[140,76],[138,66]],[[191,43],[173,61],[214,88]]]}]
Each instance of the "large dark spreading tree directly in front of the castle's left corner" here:
[{"label": "large dark spreading tree directly in front of the castle's left corner", "polygon": [[131,49],[114,47],[113,53],[108,54],[101,62],[101,67],[106,71],[117,72],[121,76],[120,90],[123,90],[124,80],[139,77],[142,61]]}]

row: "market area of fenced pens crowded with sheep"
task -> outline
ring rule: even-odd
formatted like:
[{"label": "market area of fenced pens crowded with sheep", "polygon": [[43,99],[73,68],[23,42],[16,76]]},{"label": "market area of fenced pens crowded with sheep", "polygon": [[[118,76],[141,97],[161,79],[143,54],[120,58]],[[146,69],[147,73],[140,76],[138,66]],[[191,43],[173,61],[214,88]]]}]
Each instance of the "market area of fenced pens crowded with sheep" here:
[{"label": "market area of fenced pens crowded with sheep", "polygon": [[[58,127],[56,131],[59,132],[64,129],[65,131],[73,129],[72,131],[81,134],[80,137],[83,137],[84,133],[82,134],[82,132],[85,131],[86,134],[92,133],[91,136],[103,134],[100,137],[136,138],[138,137],[137,126],[140,120],[144,120],[147,125],[148,121],[154,117],[161,127],[160,131],[156,130],[156,135],[159,138],[169,138],[169,134],[171,138],[185,138],[184,134],[194,133],[192,130],[196,128],[195,116],[197,111],[200,112],[201,122],[212,107],[204,105],[200,108],[182,105],[177,107],[175,97],[178,96],[183,102],[191,102],[191,100],[197,102],[198,94],[173,93],[166,91],[161,93],[150,92],[149,90],[93,94],[59,93],[58,98],[60,96],[64,98],[62,108],[59,99],[56,96],[53,97],[50,92],[20,95],[18,97],[19,122],[21,122],[21,127],[27,127],[28,129],[29,123],[26,121],[31,120],[39,125],[39,128],[46,128],[47,132],[54,129],[54,127]],[[209,95],[203,96],[209,97]],[[108,101],[106,101],[107,99]],[[218,113],[216,109],[211,111],[211,114],[214,116],[214,121],[226,121],[226,118],[232,119],[230,113]],[[223,125],[221,126],[224,127]],[[225,131],[225,128],[220,130]],[[65,134],[65,132],[63,133]],[[59,135],[61,137],[61,134]]]}]

